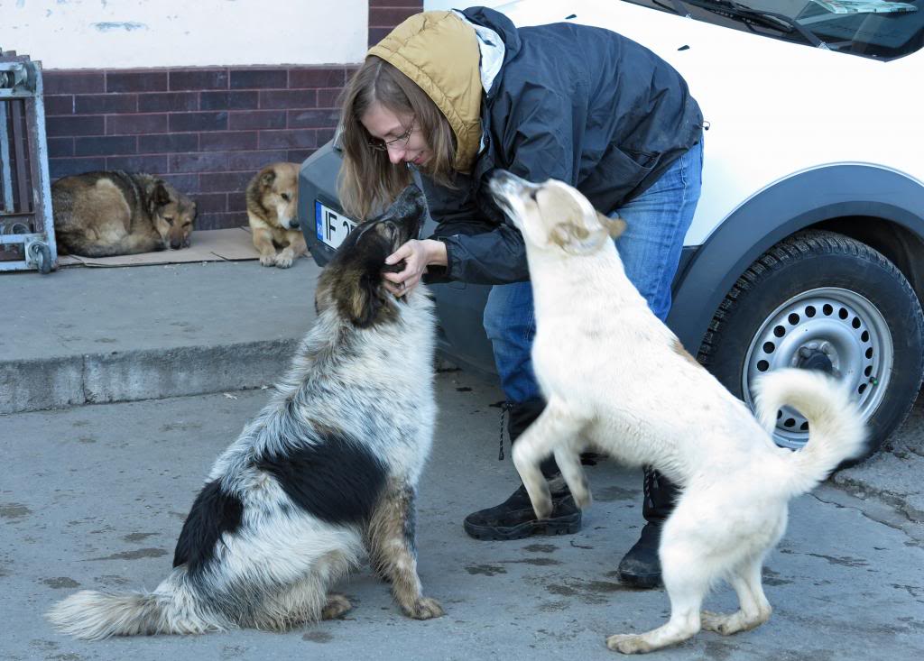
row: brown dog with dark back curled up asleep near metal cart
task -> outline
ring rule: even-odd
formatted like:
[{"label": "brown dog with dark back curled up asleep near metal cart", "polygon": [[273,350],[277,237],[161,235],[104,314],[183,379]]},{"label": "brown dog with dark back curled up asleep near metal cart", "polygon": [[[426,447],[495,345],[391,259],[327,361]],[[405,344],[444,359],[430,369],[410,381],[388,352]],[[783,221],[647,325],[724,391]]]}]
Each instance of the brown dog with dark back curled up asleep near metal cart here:
[{"label": "brown dog with dark back curled up asleep near metal cart", "polygon": [[52,184],[58,248],[111,257],[189,246],[196,203],[152,174],[88,172]]}]

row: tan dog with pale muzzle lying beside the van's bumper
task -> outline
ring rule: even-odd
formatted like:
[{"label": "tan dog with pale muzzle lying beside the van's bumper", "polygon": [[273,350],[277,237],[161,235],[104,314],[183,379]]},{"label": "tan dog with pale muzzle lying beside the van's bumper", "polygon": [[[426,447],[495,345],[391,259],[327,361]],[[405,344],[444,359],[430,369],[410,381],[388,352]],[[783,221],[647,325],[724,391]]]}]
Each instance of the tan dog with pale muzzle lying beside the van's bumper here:
[{"label": "tan dog with pale muzzle lying beside the van's bumper", "polygon": [[250,179],[247,220],[263,266],[288,269],[308,254],[298,227],[298,163],[272,163]]}]

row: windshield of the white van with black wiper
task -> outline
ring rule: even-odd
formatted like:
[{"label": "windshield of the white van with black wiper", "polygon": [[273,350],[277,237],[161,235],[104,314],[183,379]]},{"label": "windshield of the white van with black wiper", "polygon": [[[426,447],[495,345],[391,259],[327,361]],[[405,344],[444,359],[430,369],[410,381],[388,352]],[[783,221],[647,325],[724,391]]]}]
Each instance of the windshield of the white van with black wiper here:
[{"label": "windshield of the white van with black wiper", "polygon": [[626,0],[716,25],[890,60],[924,46],[924,0]]}]

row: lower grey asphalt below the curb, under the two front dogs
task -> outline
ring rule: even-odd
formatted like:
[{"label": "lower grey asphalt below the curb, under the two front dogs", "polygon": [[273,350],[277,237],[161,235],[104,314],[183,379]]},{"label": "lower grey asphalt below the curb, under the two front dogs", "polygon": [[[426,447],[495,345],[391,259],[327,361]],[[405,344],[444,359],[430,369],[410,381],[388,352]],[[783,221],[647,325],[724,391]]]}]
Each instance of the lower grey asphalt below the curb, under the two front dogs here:
[{"label": "lower grey asphalt below the curb, under the two front dogs", "polygon": [[[497,461],[491,404],[500,393],[465,372],[441,374],[438,386],[442,412],[421,487],[419,553],[426,590],[447,615],[403,618],[386,586],[363,570],[343,586],[357,605],[346,619],[285,634],[81,643],[41,617],[79,588],[152,588],[164,577],[209,465],[265,391],[2,418],[0,658],[602,659],[614,658],[605,634],[660,623],[666,595],[626,590],[613,573],[638,533],[639,476],[610,463],[590,467],[596,503],[577,535],[468,539],[463,516],[513,485],[512,464]],[[868,502],[834,487],[796,499],[789,531],[764,572],[776,609],[771,621],[730,638],[700,633],[657,658],[921,658],[921,540],[887,520],[894,510],[868,510]],[[725,587],[708,602],[713,609],[733,604]]]}]

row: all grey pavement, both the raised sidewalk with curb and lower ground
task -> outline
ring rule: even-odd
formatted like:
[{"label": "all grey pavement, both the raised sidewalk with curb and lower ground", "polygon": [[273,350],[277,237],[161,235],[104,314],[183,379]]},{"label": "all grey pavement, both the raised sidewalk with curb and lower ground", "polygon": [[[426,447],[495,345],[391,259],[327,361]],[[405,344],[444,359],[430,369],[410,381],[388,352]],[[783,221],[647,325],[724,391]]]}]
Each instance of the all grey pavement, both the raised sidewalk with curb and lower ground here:
[{"label": "all grey pavement, both the raised sidewalk with curb and lower ground", "polygon": [[[51,631],[41,614],[76,589],[164,577],[214,457],[308,328],[317,273],[302,259],[291,270],[251,261],[0,276],[0,658],[613,658],[606,634],[663,621],[663,592],[626,590],[613,574],[638,535],[639,475],[590,467],[596,503],[578,535],[464,535],[465,514],[515,483],[512,464],[497,461],[501,393],[456,371],[438,377],[419,519],[421,576],[446,617],[403,618],[360,571],[344,586],[357,604],[346,619],[286,634],[77,643]],[[92,402],[114,403],[73,405]],[[887,451],[793,502],[765,571],[769,624],[701,633],[658,658],[924,657],[921,475],[924,403]],[[733,595],[723,587],[708,605],[730,608]]]}]

